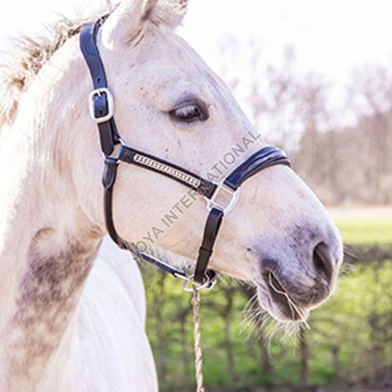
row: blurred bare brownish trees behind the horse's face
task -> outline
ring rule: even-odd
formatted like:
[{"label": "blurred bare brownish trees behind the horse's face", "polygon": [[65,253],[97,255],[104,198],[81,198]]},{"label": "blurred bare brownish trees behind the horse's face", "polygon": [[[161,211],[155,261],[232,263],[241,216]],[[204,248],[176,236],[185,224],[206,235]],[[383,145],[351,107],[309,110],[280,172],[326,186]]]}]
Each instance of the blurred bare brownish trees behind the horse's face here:
[{"label": "blurred bare brownish trees behind the horse's face", "polygon": [[324,203],[390,203],[392,67],[354,70],[346,103],[331,109],[331,86],[313,71],[299,74],[292,47],[278,65],[266,64],[261,48],[251,39],[244,51],[233,37],[220,45],[221,74],[240,101],[246,97],[258,131],[289,153]]}]

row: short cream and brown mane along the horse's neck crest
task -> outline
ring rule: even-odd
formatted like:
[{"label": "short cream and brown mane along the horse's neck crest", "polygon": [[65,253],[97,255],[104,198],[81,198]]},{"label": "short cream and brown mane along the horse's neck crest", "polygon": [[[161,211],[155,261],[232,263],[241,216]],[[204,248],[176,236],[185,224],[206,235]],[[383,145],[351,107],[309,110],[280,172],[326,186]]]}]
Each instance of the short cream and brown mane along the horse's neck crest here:
[{"label": "short cream and brown mane along the horse's neck crest", "polygon": [[0,64],[0,129],[5,124],[12,125],[23,94],[53,53],[69,38],[78,34],[85,22],[111,13],[114,8],[107,0],[93,15],[76,20],[62,17],[54,24],[46,26],[48,36],[21,36],[13,40],[15,50],[8,53],[4,64]]}]

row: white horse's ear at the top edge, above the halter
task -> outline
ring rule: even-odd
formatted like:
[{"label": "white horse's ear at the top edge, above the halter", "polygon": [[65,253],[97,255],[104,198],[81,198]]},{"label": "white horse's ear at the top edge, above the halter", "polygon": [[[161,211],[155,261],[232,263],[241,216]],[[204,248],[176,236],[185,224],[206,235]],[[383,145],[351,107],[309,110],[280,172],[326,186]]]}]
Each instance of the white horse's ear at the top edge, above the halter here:
[{"label": "white horse's ear at the top edge, above the halter", "polygon": [[179,25],[186,13],[188,0],[123,0],[103,25],[105,43],[129,42],[143,23]]}]

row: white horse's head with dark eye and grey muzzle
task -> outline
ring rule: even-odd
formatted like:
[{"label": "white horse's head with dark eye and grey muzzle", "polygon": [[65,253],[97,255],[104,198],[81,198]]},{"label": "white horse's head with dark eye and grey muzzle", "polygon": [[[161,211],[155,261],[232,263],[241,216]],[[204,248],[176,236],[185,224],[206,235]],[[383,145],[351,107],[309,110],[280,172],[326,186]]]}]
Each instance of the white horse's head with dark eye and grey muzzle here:
[{"label": "white horse's head with dark eye and grey muzzle", "polygon": [[[184,0],[125,0],[102,25],[98,48],[124,143],[220,181],[266,144],[225,83],[174,33],[186,6]],[[78,95],[87,97],[87,69],[79,77]],[[76,188],[104,230],[102,160],[83,108],[79,124],[84,143],[75,150],[89,159],[78,163]],[[202,198],[187,196],[180,184],[120,165],[113,220],[127,241],[195,258],[205,217]],[[341,262],[341,237],[318,198],[292,169],[273,166],[242,186],[210,267],[252,282],[262,307],[292,321],[331,294]]]}]

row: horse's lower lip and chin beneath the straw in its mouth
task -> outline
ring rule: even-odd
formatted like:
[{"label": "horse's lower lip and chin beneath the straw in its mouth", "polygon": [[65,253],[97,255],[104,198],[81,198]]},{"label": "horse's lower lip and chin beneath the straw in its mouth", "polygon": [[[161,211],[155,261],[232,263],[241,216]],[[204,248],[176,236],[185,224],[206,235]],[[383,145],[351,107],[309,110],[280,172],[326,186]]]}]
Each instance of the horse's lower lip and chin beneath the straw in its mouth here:
[{"label": "horse's lower lip and chin beneath the straw in its mouth", "polygon": [[257,297],[260,307],[265,309],[276,321],[296,323],[309,317],[310,311],[308,309],[300,308],[295,304],[293,306],[286,296],[270,292],[264,285],[257,285]]}]

